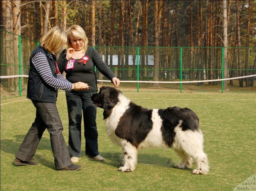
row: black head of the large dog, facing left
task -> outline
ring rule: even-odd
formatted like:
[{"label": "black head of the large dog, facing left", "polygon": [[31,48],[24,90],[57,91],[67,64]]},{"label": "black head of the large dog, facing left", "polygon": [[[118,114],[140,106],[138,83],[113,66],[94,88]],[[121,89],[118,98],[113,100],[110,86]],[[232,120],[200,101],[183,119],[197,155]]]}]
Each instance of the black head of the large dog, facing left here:
[{"label": "black head of the large dog, facing left", "polygon": [[94,105],[107,111],[118,103],[119,93],[120,91],[115,88],[102,86],[99,93],[92,94],[91,99]]}]

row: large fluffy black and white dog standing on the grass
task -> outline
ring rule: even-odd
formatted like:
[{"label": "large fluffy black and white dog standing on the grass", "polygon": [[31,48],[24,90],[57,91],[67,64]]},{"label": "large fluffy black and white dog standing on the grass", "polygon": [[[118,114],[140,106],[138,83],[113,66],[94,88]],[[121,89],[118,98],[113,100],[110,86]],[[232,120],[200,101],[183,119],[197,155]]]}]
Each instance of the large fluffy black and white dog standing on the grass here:
[{"label": "large fluffy black and white dog standing on the grass", "polygon": [[122,146],[124,160],[119,171],[134,171],[137,153],[142,148],[171,147],[181,158],[177,168],[197,165],[193,174],[207,174],[207,155],[199,119],[192,110],[180,107],[146,109],[133,103],[120,90],[103,86],[91,97],[94,105],[104,109],[106,133]]}]

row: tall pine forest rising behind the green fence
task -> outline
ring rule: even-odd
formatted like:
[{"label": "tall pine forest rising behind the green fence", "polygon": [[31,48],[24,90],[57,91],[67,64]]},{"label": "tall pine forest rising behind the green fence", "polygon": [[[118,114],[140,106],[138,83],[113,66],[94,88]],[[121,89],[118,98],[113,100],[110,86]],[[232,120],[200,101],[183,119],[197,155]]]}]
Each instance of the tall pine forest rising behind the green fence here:
[{"label": "tall pine forest rising behind the green fence", "polygon": [[[234,47],[234,51],[224,48],[224,78],[256,73],[255,0],[2,0],[1,18],[2,30],[36,41],[53,26],[66,30],[78,24],[84,28],[90,46],[206,47],[201,52],[193,48],[189,52],[191,58],[205,54],[200,62],[205,63],[202,70],[208,70],[206,79],[220,78],[218,71],[214,76],[214,68],[221,68],[217,60],[220,53],[210,48]],[[5,52],[12,52],[8,51],[8,38],[13,47],[18,47],[18,38],[5,37]],[[30,41],[27,43],[29,47]],[[243,49],[238,47],[248,48],[241,53]],[[163,67],[160,57],[159,51],[154,51],[156,70]],[[13,58],[18,55],[6,55],[5,62]],[[239,69],[237,74],[231,70],[228,74],[228,60],[235,60],[230,67]],[[154,81],[160,79],[159,72],[153,75]],[[200,80],[200,74],[197,76]],[[244,81],[246,87],[254,86],[254,78]],[[243,80],[239,80],[239,86],[243,87]]]}]

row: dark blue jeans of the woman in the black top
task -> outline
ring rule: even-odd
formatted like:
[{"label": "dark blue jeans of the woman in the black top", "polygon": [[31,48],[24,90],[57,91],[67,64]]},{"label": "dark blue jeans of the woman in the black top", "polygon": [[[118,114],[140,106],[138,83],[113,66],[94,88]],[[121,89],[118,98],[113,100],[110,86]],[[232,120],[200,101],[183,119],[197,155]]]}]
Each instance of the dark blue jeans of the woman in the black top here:
[{"label": "dark blue jeans of the woman in the black top", "polygon": [[84,117],[85,154],[97,156],[98,131],[96,125],[97,109],[93,105],[90,94],[84,90],[66,92],[68,106],[68,148],[71,157],[81,156],[81,123]]}]

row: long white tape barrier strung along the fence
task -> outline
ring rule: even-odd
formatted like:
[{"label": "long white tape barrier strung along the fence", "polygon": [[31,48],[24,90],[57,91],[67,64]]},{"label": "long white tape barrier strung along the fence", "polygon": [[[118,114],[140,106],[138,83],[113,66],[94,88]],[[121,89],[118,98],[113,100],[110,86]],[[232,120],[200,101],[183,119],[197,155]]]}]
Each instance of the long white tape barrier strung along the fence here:
[{"label": "long white tape barrier strung along the fence", "polygon": [[[254,75],[249,76],[240,76],[235,78],[224,78],[224,79],[216,79],[216,80],[198,80],[198,81],[175,81],[175,82],[161,82],[161,81],[120,81],[120,82],[137,82],[137,83],[162,83],[162,84],[180,84],[180,83],[198,83],[198,82],[216,82],[216,81],[224,81],[224,80],[236,80],[241,78],[250,78],[254,77]],[[16,77],[28,77],[27,75],[15,75],[15,76],[1,76],[2,78],[16,78]],[[111,82],[110,80],[98,80],[98,82]]]}]

